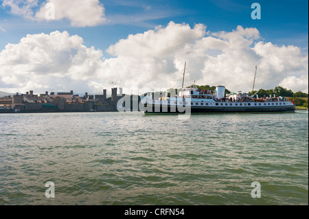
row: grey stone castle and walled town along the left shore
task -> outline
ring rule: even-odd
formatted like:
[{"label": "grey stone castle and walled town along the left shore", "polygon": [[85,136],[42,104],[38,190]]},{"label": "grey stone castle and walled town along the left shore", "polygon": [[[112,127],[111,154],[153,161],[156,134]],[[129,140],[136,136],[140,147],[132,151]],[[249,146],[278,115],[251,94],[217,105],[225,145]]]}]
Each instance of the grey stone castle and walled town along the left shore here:
[{"label": "grey stone castle and walled town along the left shore", "polygon": [[107,97],[106,89],[100,95],[89,95],[85,93],[83,97],[74,95],[73,91],[41,93],[35,95],[33,91],[25,94],[13,95],[0,102],[0,113],[8,111],[21,113],[43,113],[43,112],[104,112],[117,111],[117,102],[123,97],[122,88],[111,89],[111,97]]}]

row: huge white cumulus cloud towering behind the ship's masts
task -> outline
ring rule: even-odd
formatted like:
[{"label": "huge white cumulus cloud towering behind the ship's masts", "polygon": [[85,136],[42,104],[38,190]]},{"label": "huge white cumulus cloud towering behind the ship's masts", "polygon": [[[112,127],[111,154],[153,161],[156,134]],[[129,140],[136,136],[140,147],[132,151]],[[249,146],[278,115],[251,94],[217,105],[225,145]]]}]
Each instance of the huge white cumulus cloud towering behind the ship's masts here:
[{"label": "huge white cumulus cloud towering behind the ship's masts", "polygon": [[[115,56],[105,60],[98,76],[115,74],[122,86],[139,82],[142,87],[181,87],[182,69],[187,61],[185,85],[225,85],[231,91],[251,91],[255,66],[255,89],[273,89],[285,78],[297,77],[296,84],[306,91],[308,54],[293,45],[278,47],[260,40],[256,28],[238,26],[232,32],[206,32],[205,25],[190,27],[170,22],[143,34],[129,35],[111,45]],[[282,84],[282,83],[281,83]],[[297,85],[295,84],[295,91]]]}]

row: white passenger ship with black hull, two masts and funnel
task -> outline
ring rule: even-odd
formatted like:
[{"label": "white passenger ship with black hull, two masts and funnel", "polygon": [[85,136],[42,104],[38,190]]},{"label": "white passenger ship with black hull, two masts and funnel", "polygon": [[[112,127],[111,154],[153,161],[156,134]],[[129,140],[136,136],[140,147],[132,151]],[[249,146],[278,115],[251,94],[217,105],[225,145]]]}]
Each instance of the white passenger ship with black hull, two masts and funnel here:
[{"label": "white passenger ship with black hull, two masts and funnel", "polygon": [[[256,73],[256,72],[255,72]],[[185,71],[183,73],[184,80]],[[253,85],[254,87],[254,85]],[[225,95],[225,87],[217,86],[216,91],[199,91],[182,88],[179,95],[141,98],[145,114],[152,113],[293,113],[295,105],[285,97],[254,98],[248,93],[238,92]]]}]

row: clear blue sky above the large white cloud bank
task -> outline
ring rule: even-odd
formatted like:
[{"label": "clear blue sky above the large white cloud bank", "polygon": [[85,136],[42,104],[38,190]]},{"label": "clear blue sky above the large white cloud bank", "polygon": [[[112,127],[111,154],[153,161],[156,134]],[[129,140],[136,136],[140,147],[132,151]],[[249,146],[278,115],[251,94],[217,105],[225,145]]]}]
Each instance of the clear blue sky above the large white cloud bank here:
[{"label": "clear blue sky above the large white cloud bank", "polygon": [[[126,38],[128,34],[142,33],[157,25],[195,23],[207,25],[211,32],[231,31],[242,25],[256,27],[264,41],[277,45],[297,45],[308,48],[308,1],[102,1],[107,19],[111,23],[95,27],[71,27],[69,21],[37,22],[24,19],[0,9],[0,48],[18,43],[27,34],[67,30],[71,35],[84,38],[85,45],[102,50]],[[251,19],[251,4],[261,5],[262,19]]]}]

